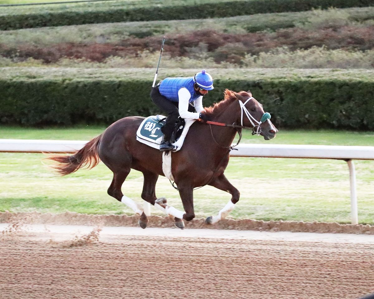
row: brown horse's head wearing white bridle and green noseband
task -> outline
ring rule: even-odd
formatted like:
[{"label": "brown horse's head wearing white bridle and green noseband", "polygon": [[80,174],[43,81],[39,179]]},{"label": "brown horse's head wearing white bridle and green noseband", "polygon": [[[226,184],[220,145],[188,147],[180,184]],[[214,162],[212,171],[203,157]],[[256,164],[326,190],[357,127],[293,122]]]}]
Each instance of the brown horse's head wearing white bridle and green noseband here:
[{"label": "brown horse's head wearing white bridle and green noseband", "polygon": [[262,105],[252,97],[252,93],[241,91],[239,93],[231,90],[225,90],[225,98],[236,98],[239,101],[240,113],[238,115],[237,124],[252,127],[252,134],[264,136],[265,140],[273,139],[278,133],[277,128],[270,121],[270,114],[265,113]]}]

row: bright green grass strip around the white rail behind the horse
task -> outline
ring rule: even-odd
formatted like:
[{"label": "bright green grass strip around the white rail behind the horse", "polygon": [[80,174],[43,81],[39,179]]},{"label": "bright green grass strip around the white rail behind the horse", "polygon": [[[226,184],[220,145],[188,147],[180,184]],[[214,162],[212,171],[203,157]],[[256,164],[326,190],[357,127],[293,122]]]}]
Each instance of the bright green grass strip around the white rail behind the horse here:
[{"label": "bright green grass strip around the white rail behind the horse", "polygon": [[[74,128],[23,129],[0,127],[0,139],[89,140],[99,135],[102,126]],[[266,142],[245,132],[242,143],[374,145],[374,132],[289,131],[280,130],[277,138]],[[59,213],[126,213],[131,210],[106,190],[112,174],[100,163],[91,170],[58,177],[43,164],[43,154],[0,153],[0,211],[38,211]],[[355,161],[359,222],[374,224],[374,161]],[[231,158],[225,172],[241,194],[231,217],[282,219],[294,221],[350,222],[349,172],[344,161],[283,158]],[[142,175],[132,170],[123,192],[137,203],[142,190]],[[160,177],[156,194],[183,209],[169,181]],[[206,186],[194,191],[198,218],[215,215],[230,195]],[[152,208],[152,213],[161,215]]]}]

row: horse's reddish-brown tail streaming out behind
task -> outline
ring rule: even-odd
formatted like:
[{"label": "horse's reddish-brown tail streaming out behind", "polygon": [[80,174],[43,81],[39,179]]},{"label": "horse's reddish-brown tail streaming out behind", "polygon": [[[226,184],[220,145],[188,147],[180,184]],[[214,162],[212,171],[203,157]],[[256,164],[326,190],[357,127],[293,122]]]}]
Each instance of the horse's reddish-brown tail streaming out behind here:
[{"label": "horse's reddish-brown tail streaming out behind", "polygon": [[51,167],[53,167],[59,175],[68,175],[83,167],[86,169],[95,167],[100,162],[98,147],[101,135],[91,139],[83,148],[76,151],[73,155],[56,155],[47,158],[48,160],[57,162],[57,164]]}]

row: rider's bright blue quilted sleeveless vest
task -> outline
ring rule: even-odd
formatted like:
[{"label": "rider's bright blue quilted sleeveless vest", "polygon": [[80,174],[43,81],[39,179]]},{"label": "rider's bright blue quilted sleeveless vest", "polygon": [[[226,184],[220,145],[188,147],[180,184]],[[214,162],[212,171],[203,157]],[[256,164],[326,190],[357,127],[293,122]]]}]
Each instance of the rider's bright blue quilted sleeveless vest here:
[{"label": "rider's bright blue quilted sleeveless vest", "polygon": [[177,78],[165,78],[161,81],[159,86],[160,93],[170,101],[179,102],[178,91],[186,87],[190,92],[191,98],[189,102],[193,102],[200,95],[196,94],[193,88],[193,77],[177,77]]}]

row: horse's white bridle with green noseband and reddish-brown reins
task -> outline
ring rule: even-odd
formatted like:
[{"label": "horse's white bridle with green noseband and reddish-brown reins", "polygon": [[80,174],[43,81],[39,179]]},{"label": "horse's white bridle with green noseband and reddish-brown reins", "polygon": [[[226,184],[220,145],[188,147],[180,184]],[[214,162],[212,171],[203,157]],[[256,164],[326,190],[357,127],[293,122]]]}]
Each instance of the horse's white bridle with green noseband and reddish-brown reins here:
[{"label": "horse's white bridle with green noseband and reddish-brown reins", "polygon": [[[233,123],[233,124],[225,124],[225,123],[218,123],[216,121],[206,121],[207,124],[209,124],[209,127],[210,127],[210,130],[211,130],[211,135],[212,135],[212,138],[214,140],[214,142],[216,144],[218,144],[220,147],[223,147],[223,148],[229,148],[230,150],[232,149],[236,149],[234,147],[236,147],[240,140],[242,139],[242,132],[239,130],[239,129],[249,129],[249,130],[252,130],[252,135],[255,135],[257,134],[260,135],[262,130],[261,130],[261,127],[260,125],[262,123],[264,123],[265,121],[269,120],[271,118],[271,115],[269,112],[265,112],[262,116],[261,116],[261,119],[260,121],[257,121],[256,118],[254,118],[251,114],[251,112],[248,111],[248,109],[245,107],[245,105],[248,103],[249,100],[251,99],[255,99],[254,97],[249,97],[244,103],[242,101],[239,101],[239,105],[240,105],[240,111],[241,111],[241,116],[240,116],[240,125],[237,125],[236,123]],[[243,126],[243,115],[246,115],[246,117],[248,118],[248,120],[251,122],[252,126],[253,127],[247,127],[247,126]],[[257,123],[257,124],[255,124]],[[214,135],[213,135],[213,131],[212,131],[212,126],[211,125],[215,125],[215,126],[224,126],[224,127],[233,127],[236,129],[237,133],[239,134],[239,141],[237,142],[236,145],[232,145],[230,147],[225,147],[223,145],[220,145],[214,138]]]}]

